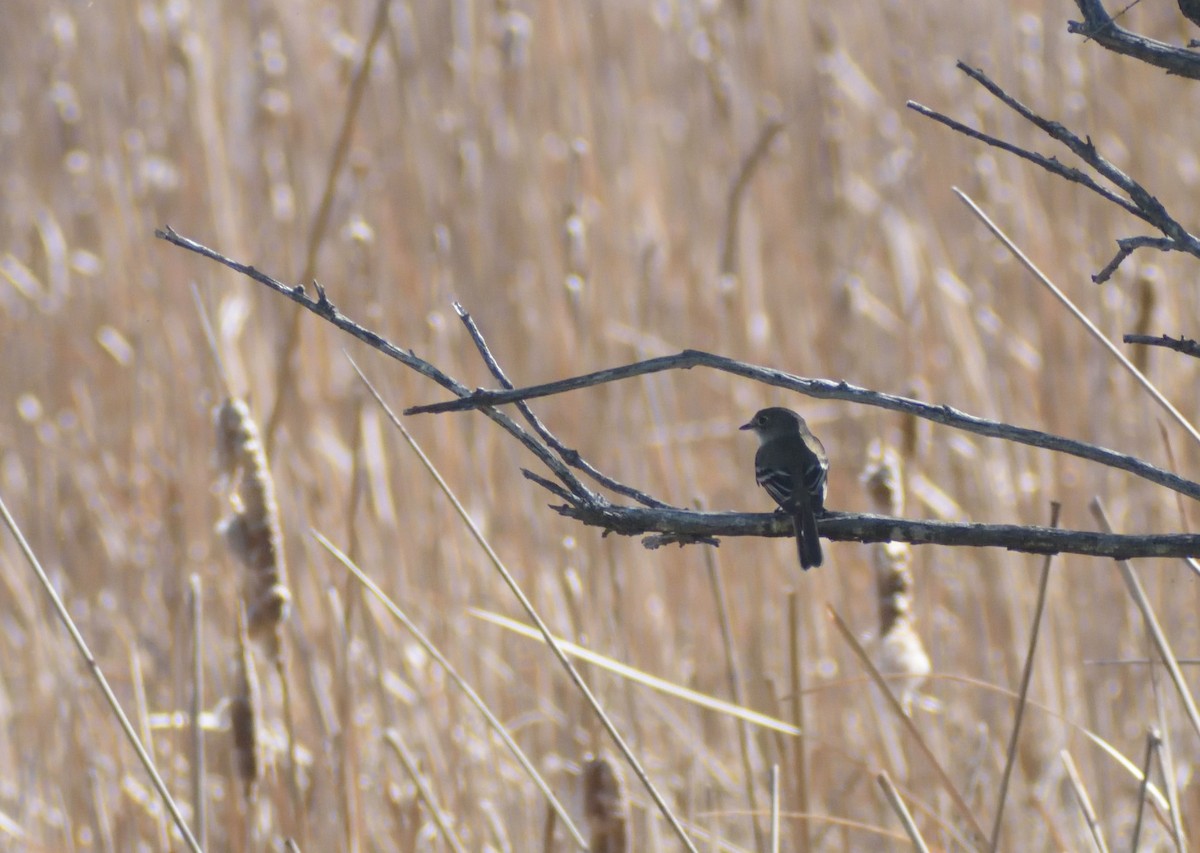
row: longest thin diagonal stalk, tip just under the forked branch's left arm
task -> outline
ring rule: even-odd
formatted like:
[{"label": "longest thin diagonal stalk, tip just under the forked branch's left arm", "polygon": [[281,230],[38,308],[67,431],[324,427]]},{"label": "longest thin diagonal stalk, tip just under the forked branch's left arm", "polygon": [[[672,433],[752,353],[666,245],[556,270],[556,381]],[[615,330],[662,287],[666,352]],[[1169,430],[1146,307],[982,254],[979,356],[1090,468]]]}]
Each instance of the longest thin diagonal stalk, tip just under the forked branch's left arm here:
[{"label": "longest thin diagonal stalk, tip just under the forked branch's left arm", "polygon": [[408,443],[408,446],[412,447],[413,452],[416,453],[418,458],[420,458],[421,464],[425,465],[425,469],[430,473],[430,476],[433,477],[438,487],[450,500],[451,505],[455,507],[455,511],[458,513],[458,517],[462,518],[463,523],[467,525],[467,529],[470,531],[470,535],[484,549],[484,553],[487,554],[487,559],[491,561],[492,566],[496,569],[497,572],[499,572],[505,585],[516,597],[522,609],[524,609],[526,615],[528,615],[529,620],[538,626],[538,631],[546,641],[546,644],[550,647],[554,657],[558,659],[558,662],[566,671],[566,674],[571,679],[571,683],[575,685],[575,689],[580,691],[580,695],[583,697],[583,701],[592,709],[592,713],[595,715],[596,720],[600,721],[600,725],[604,726],[604,729],[608,733],[608,737],[617,746],[617,750],[624,756],[625,761],[629,763],[634,774],[637,776],[638,781],[642,783],[647,793],[650,795],[650,799],[654,800],[654,805],[658,807],[659,813],[662,815],[667,824],[671,827],[671,831],[674,833],[676,837],[679,839],[679,842],[684,846],[685,849],[692,851],[692,853],[695,853],[696,847],[688,837],[688,833],[684,830],[683,824],[679,822],[679,818],[671,810],[671,806],[667,805],[667,801],[662,798],[662,794],[659,793],[659,789],[658,787],[655,787],[654,782],[650,781],[650,777],[642,768],[641,762],[638,762],[637,758],[634,756],[632,750],[625,743],[625,739],[622,737],[620,732],[617,731],[617,726],[612,722],[612,720],[608,717],[608,714],[606,714],[604,708],[600,705],[600,701],[596,699],[595,695],[592,692],[592,689],[588,687],[588,685],[583,681],[583,677],[580,675],[580,673],[571,665],[571,661],[563,653],[559,642],[554,638],[554,635],[551,633],[550,627],[538,614],[538,611],[534,608],[533,602],[529,601],[529,597],[524,594],[524,590],[521,589],[521,585],[512,576],[512,572],[510,572],[508,566],[505,566],[503,560],[500,560],[499,554],[497,554],[496,549],[492,548],[491,542],[488,542],[487,539],[484,536],[482,531],[479,529],[474,519],[470,517],[470,513],[468,513],[466,507],[462,505],[462,501],[460,501],[457,495],[455,495],[454,491],[451,491],[450,486],[443,479],[442,474],[433,465],[430,458],[425,455],[425,451],[422,451],[420,445],[416,444],[416,439],[414,439],[412,434],[408,432],[408,429],[404,428],[404,425],[400,422],[400,419],[396,418],[395,413],[384,402],[383,397],[379,396],[374,386],[371,385],[370,382],[367,382],[367,378],[362,374],[362,371],[359,370],[359,366],[354,364],[354,360],[350,359],[349,361],[350,365],[354,367],[355,372],[359,374],[359,378],[367,386],[367,390],[371,391],[371,395],[376,398],[376,402],[379,403],[384,413],[391,420],[392,425],[400,431],[401,435],[404,437],[404,440]]}]

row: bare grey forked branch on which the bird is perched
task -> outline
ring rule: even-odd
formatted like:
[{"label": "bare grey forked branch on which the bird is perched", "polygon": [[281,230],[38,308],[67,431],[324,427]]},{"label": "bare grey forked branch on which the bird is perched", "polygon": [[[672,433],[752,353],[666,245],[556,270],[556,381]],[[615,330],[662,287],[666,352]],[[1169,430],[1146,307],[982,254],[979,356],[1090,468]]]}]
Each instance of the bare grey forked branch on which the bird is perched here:
[{"label": "bare grey forked branch on which the bird is perched", "polygon": [[[454,394],[457,400],[413,407],[406,414],[479,409],[524,445],[554,475],[557,481],[548,480],[532,471],[524,471],[526,476],[547,488],[564,501],[563,505],[553,507],[557,512],[583,524],[599,527],[606,534],[646,535],[646,542],[649,547],[689,542],[715,545],[718,536],[786,536],[792,535],[793,531],[791,521],[779,515],[757,512],[697,512],[670,506],[632,486],[622,483],[589,464],[577,451],[563,445],[533,414],[526,401],[667,370],[708,367],[754,379],[767,385],[786,388],[811,397],[845,400],[865,406],[876,406],[931,420],[956,429],[1078,456],[1099,464],[1126,470],[1181,494],[1200,499],[1200,483],[1114,450],[1037,429],[976,418],[948,406],[931,406],[907,397],[856,388],[845,382],[796,377],[781,371],[748,365],[700,350],[685,350],[677,355],[649,359],[556,383],[514,389],[512,383],[488,350],[482,334],[470,316],[461,306],[456,305],[455,308],[458,311],[485,362],[497,380],[505,386],[499,390],[478,389],[472,391],[412,350],[401,349],[376,332],[354,323],[354,320],[342,314],[334,306],[320,286],[314,286],[317,296],[313,298],[308,295],[302,286],[289,287],[259,272],[253,266],[226,258],[218,252],[188,240],[169,228],[156,232],[156,235],[248,276],[260,284],[287,296],[347,334],[353,335],[373,349],[433,379]],[[533,427],[533,433],[521,427],[509,415],[497,408],[512,403],[518,406],[521,414]],[[642,506],[614,505],[607,498],[586,486],[576,476],[575,470],[582,471],[592,481],[598,482],[610,492],[630,498],[642,504]],[[1111,558],[1200,555],[1200,535],[1123,536],[1015,524],[962,524],[910,521],[846,512],[827,513],[821,518],[820,527],[823,536],[833,540],[858,542],[905,541],[929,545],[1002,547],[1030,553],[1079,553]]]}]

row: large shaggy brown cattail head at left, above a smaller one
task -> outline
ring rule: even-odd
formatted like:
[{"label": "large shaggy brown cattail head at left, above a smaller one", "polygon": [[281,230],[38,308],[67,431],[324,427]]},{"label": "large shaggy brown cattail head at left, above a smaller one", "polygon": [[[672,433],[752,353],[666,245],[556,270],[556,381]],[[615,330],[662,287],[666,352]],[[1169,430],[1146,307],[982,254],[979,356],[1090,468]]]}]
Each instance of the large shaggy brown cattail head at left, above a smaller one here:
[{"label": "large shaggy brown cattail head at left, above a smaller one", "polygon": [[221,534],[246,569],[242,601],[250,636],[272,657],[281,653],[280,629],[292,602],[275,485],[250,408],[228,398],[216,412],[217,467],[229,477],[233,512]]}]

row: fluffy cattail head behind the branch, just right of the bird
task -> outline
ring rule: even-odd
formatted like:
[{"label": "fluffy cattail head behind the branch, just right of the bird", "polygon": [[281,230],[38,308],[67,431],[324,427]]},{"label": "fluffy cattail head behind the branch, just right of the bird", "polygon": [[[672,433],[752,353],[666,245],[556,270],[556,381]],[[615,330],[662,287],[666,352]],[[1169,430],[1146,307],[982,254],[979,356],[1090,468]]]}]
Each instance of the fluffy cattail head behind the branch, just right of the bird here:
[{"label": "fluffy cattail head behind the branch, just right of the bird", "polygon": [[[904,513],[900,453],[894,447],[871,443],[863,485],[877,512]],[[880,606],[878,667],[884,674],[907,677],[902,679],[901,701],[908,708],[930,672],[929,655],[912,615],[912,547],[907,542],[874,545],[871,565]]]}]

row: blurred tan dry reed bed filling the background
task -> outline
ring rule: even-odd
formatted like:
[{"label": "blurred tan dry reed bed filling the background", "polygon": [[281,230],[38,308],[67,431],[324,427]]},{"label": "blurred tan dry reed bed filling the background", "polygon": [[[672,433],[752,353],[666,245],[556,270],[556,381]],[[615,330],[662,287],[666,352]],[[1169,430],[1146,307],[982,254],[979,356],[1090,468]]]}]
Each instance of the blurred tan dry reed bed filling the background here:
[{"label": "blurred tan dry reed bed filling the background", "polygon": [[[1096,441],[1171,467],[1158,412],[1036,288],[950,193],[958,185],[1111,335],[1195,334],[1194,262],[1139,254],[1114,283],[1088,275],[1141,230],[1076,187],[904,109],[914,98],[1058,154],[953,62],[982,66],[1044,114],[1088,133],[1187,223],[1200,182],[1200,89],[1066,35],[1069,4],[401,2],[374,56],[316,276],[342,311],[470,385],[492,384],[451,311],[461,300],[518,383],[698,347],[802,376],[914,392],[973,414]],[[0,32],[0,488],[139,723],[185,811],[191,746],[151,728],[187,705],[187,578],[204,595],[206,703],[236,680],[238,567],[214,528],[222,396],[188,284],[216,318],[234,388],[265,424],[296,308],[152,238],[170,224],[283,280],[305,269],[371,4],[31,2]],[[1130,28],[1196,35],[1146,0]],[[719,275],[730,181],[764,121],[785,122],[745,198],[739,276]],[[1151,300],[1151,301],[1147,301]],[[546,650],[470,617],[509,593],[445,498],[354,379],[349,348],[396,408],[445,392],[311,316],[271,467],[294,597],[292,678],[306,827],[292,813],[280,684],[260,667],[276,751],[247,806],[227,731],[208,735],[211,849],[434,849],[428,812],[384,745],[394,726],[468,849],[542,849],[546,806],[478,714],[308,536],[316,527],[420,624],[583,818],[581,768],[605,738]],[[1154,353],[1148,373],[1183,410],[1196,368]],[[904,424],[880,410],[782,397],[721,374],[658,376],[539,401],[569,444],[674,504],[766,510],[751,439],[767,403],[804,412],[833,459],[829,505],[866,510],[868,446],[902,447],[908,512],[1092,528],[1100,495],[1120,529],[1183,529],[1175,498],[1128,475],[1028,447]],[[726,657],[700,547],[649,552],[546,509],[530,464],[479,415],[409,428],[560,633],[727,697]],[[1184,475],[1200,452],[1166,428]],[[170,830],[11,539],[0,537],[0,812],[11,849],[156,849]],[[757,733],[752,783],[782,773],[787,849],[906,842],[875,786],[886,769],[937,848],[961,823],[911,739],[878,705],[833,606],[877,630],[869,548],[827,543],[800,576],[785,541],[726,541],[746,702],[787,715],[799,602],[809,822],[794,739]],[[990,827],[1040,561],[914,552],[917,627],[934,677],[916,722]],[[1176,651],[1198,649],[1195,581],[1146,563]],[[374,639],[373,639],[374,638]],[[376,642],[376,639],[378,642]],[[1115,565],[1056,560],[1003,847],[1080,849],[1068,750],[1100,827],[1128,843],[1138,782],[1096,733],[1140,763],[1159,725],[1140,666],[1140,617]],[[584,669],[677,813],[755,845],[733,723]],[[949,678],[954,677],[954,678]],[[144,693],[144,707],[136,702]],[[1196,733],[1163,690],[1182,818],[1200,833]],[[157,715],[157,716],[155,716]],[[271,762],[269,762],[271,764]],[[677,841],[636,785],[636,849]],[[1144,843],[1168,834],[1147,818]],[[697,830],[698,831],[698,830]],[[703,837],[697,835],[697,837]],[[704,841],[704,843],[708,843]],[[566,848],[562,829],[554,848]],[[180,848],[178,840],[170,842]]]}]

